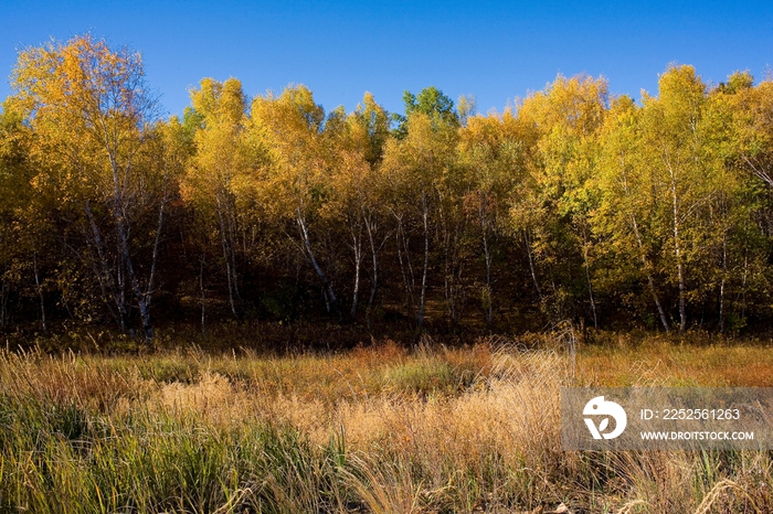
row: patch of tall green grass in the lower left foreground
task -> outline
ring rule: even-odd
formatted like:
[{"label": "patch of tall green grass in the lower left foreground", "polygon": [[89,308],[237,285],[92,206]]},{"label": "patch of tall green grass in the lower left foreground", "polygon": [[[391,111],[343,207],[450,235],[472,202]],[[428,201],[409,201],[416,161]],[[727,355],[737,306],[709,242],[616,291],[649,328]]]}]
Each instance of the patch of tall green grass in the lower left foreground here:
[{"label": "patch of tall green grass in the lower left foreground", "polygon": [[0,511],[319,512],[343,494],[332,460],[292,427],[105,417],[0,399]]}]

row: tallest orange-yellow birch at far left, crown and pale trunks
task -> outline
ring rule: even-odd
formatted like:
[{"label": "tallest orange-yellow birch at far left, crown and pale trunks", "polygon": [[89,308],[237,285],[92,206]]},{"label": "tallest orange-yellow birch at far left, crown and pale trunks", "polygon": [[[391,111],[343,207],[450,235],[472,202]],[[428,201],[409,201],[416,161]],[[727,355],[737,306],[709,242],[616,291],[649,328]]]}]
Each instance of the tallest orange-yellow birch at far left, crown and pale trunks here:
[{"label": "tallest orange-yellow birch at far left, crown and pale trunks", "polygon": [[[67,43],[23,50],[12,79],[14,95],[36,135],[34,154],[56,161],[60,183],[72,193],[62,200],[76,202],[85,215],[97,256],[94,270],[113,298],[121,330],[128,329],[127,287],[145,339],[150,341],[155,276],[138,272],[131,232],[133,222],[148,214],[139,211],[149,205],[137,203],[149,172],[139,163],[139,154],[158,109],[145,83],[141,56],[128,49],[114,51],[105,41],[86,34]],[[152,205],[159,229],[165,206],[163,201]],[[113,248],[107,247],[108,238],[97,221],[102,208],[110,218]],[[115,261],[109,254],[115,254]]]}]

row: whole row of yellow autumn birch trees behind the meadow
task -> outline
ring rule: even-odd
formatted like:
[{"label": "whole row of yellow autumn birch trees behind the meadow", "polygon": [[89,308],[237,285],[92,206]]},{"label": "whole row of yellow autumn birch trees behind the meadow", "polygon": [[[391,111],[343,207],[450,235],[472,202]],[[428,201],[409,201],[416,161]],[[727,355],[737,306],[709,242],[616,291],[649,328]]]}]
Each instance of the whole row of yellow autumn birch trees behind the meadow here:
[{"label": "whole row of yellow autumn birch trees behind the meadow", "polygon": [[0,114],[0,330],[266,319],[717,332],[773,319],[773,82],[687,65],[639,104],[559,76],[504,113],[403,114],[204,78],[163,117],[141,56],[19,53]]}]

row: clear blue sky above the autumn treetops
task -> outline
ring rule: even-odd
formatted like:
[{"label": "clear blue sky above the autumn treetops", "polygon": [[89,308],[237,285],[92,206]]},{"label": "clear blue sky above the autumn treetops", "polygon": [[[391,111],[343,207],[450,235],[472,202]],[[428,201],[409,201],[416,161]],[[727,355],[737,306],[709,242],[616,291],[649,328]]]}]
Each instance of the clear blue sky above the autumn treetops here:
[{"label": "clear blue sky above the autumn treetops", "polygon": [[[0,69],[17,50],[91,31],[142,52],[148,82],[181,113],[202,77],[240,78],[253,96],[305,84],[331,110],[366,90],[402,111],[404,89],[434,85],[478,110],[542,89],[558,73],[604,75],[615,94],[657,92],[668,63],[706,82],[773,65],[769,1],[50,1],[0,0]],[[0,83],[0,98],[10,93]]]}]

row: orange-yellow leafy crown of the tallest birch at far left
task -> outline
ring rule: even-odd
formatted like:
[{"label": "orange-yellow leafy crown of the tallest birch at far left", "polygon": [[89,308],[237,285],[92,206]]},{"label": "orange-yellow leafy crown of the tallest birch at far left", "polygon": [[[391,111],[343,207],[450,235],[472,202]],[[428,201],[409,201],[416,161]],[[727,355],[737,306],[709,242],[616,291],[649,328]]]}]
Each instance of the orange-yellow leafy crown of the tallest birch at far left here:
[{"label": "orange-yellow leafy crown of the tallest birch at far left", "polygon": [[63,171],[103,194],[127,182],[156,108],[139,54],[113,51],[91,34],[52,41],[19,54],[13,86],[43,161],[60,161]]}]

